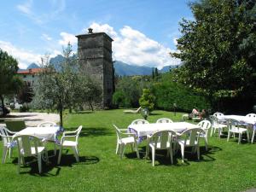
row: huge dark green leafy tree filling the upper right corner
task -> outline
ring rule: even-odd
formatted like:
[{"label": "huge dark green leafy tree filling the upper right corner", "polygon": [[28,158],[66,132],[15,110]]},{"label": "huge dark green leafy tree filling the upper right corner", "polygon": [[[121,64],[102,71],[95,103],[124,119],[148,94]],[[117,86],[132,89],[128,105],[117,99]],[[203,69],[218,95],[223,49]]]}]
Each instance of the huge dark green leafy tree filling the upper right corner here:
[{"label": "huge dark green leafy tree filling the upper right corner", "polygon": [[184,63],[179,79],[212,98],[253,96],[255,1],[201,0],[190,9],[195,20],[180,23],[182,37],[172,53]]}]

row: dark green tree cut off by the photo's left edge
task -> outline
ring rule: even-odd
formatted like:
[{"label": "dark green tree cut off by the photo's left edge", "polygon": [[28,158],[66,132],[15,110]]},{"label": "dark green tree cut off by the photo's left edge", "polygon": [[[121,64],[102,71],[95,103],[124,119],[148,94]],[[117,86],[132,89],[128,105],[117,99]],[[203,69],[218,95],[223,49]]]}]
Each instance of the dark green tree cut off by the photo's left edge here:
[{"label": "dark green tree cut off by the photo's left edge", "polygon": [[[4,108],[3,98],[9,94],[17,93],[22,87],[22,81],[15,77],[18,71],[18,61],[7,52],[0,49],[0,99]],[[3,113],[5,111],[3,110]],[[3,115],[5,115],[4,113]]]}]

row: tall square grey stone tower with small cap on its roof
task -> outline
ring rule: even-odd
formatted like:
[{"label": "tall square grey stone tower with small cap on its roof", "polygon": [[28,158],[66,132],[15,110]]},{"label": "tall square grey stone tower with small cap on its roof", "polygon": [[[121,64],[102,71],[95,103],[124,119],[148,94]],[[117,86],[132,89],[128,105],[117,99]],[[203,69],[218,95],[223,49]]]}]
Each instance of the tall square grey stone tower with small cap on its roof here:
[{"label": "tall square grey stone tower with small cap on its roof", "polygon": [[101,108],[111,108],[113,96],[112,42],[105,32],[92,32],[76,36],[78,38],[79,64],[84,73],[96,79],[102,86]]}]

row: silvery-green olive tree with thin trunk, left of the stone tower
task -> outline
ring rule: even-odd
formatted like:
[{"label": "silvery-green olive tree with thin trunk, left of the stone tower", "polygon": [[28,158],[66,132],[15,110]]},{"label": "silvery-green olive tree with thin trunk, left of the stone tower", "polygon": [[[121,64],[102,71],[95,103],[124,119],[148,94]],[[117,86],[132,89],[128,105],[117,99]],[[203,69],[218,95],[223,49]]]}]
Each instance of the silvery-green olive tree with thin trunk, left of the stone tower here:
[{"label": "silvery-green olive tree with thin trunk, left of the stone tower", "polygon": [[[32,104],[36,108],[56,109],[60,114],[60,124],[63,125],[63,111],[70,111],[81,101],[89,101],[89,96],[98,98],[100,88],[96,90],[96,83],[80,73],[75,55],[72,55],[70,44],[63,49],[64,61],[55,69],[49,63],[49,55],[42,58],[43,70],[38,75],[35,84]],[[88,83],[89,82],[89,83]],[[93,101],[91,98],[90,102]]]}]

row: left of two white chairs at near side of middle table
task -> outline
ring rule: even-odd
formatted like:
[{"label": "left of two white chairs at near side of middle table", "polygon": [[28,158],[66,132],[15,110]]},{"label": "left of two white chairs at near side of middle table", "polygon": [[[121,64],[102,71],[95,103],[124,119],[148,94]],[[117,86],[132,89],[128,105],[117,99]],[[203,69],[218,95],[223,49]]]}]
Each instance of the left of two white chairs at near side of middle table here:
[{"label": "left of two white chairs at near side of middle table", "polygon": [[173,164],[173,150],[172,142],[173,137],[176,135],[174,131],[157,131],[153,135],[148,136],[148,145],[146,149],[146,158],[148,157],[149,148],[152,150],[152,166],[154,166],[155,150],[167,149],[171,156],[171,162]]}]

